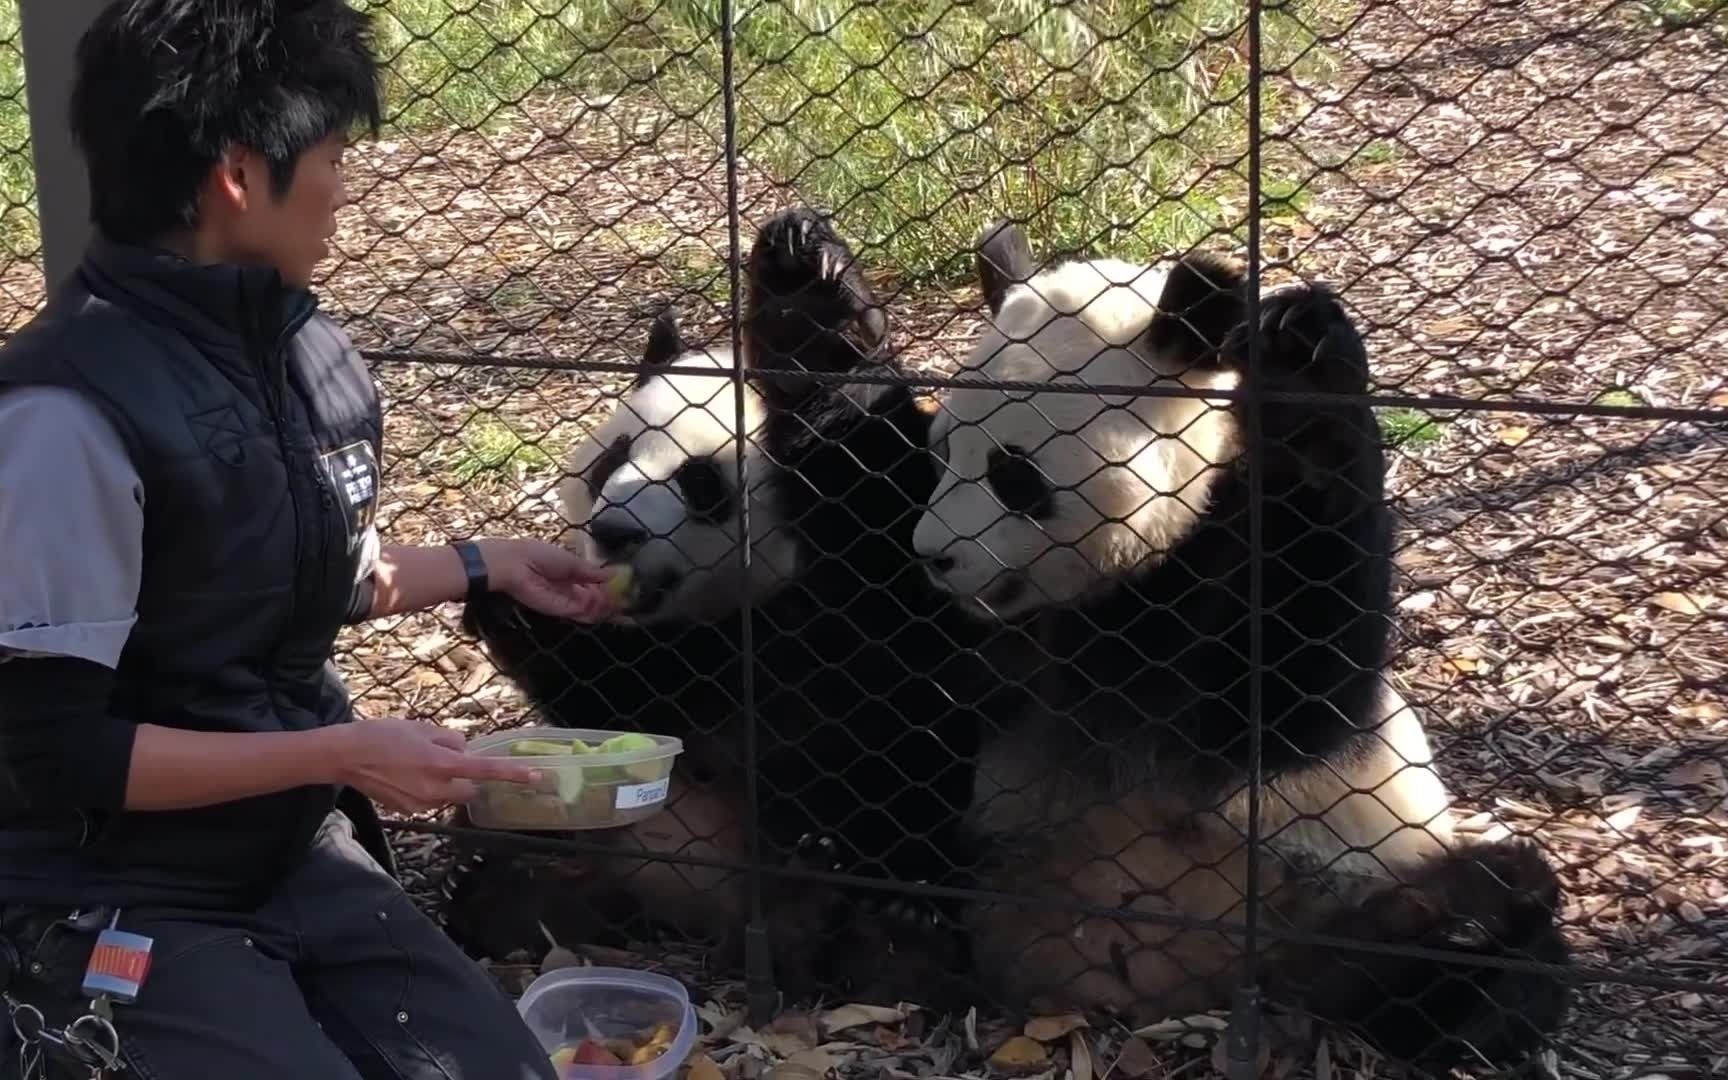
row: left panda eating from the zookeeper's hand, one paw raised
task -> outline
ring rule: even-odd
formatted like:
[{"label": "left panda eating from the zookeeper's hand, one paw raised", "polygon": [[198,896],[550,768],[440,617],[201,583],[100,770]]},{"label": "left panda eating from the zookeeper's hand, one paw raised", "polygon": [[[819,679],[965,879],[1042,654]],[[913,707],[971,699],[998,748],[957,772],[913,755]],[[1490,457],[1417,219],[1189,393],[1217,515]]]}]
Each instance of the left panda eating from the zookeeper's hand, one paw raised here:
[{"label": "left panda eating from the zookeeper's hand, one paw raised", "polygon": [[[743,276],[738,359],[753,377],[740,387],[729,351],[691,346],[662,313],[641,375],[565,461],[565,543],[627,563],[632,607],[581,626],[492,596],[465,620],[550,722],[684,740],[667,810],[584,840],[935,880],[971,797],[976,727],[949,691],[969,620],[911,553],[937,479],[933,410],[905,385],[821,378],[899,370],[883,308],[826,218],[769,218]],[[745,828],[752,757],[759,836]],[[543,928],[605,940],[594,931],[613,923],[717,945],[726,962],[750,893],[714,864],[465,857],[444,919],[487,956],[543,947]],[[833,985],[842,957],[873,956],[857,918],[873,893],[766,878],[762,895],[781,988]]]}]

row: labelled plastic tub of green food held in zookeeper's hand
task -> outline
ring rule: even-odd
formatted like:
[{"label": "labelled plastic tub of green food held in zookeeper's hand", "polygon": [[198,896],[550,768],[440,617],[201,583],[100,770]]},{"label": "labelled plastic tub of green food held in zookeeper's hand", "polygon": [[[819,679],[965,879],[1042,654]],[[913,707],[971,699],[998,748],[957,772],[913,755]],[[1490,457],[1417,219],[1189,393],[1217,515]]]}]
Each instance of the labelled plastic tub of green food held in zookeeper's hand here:
[{"label": "labelled plastic tub of green food held in zookeeper's hand", "polygon": [[[634,750],[601,753],[607,740],[627,736],[651,740]],[[574,740],[591,752],[577,753]],[[517,743],[572,746],[570,753],[511,753]],[[681,740],[664,734],[596,731],[584,727],[517,727],[468,743],[468,750],[508,755],[541,771],[539,783],[479,781],[468,816],[482,829],[610,829],[653,817],[665,805],[672,760],[683,753]]]}]

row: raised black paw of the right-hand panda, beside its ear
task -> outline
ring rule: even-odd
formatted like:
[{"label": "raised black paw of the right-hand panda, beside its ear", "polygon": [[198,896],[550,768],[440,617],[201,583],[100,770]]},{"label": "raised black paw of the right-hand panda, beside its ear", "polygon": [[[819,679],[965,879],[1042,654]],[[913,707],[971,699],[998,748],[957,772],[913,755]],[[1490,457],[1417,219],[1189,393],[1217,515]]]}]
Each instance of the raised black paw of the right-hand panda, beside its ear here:
[{"label": "raised black paw of the right-hand panda, beside its ear", "polygon": [[1275,385],[1329,394],[1367,389],[1369,354],[1362,334],[1325,285],[1289,285],[1265,295],[1258,325],[1239,327],[1230,342],[1244,366],[1249,332],[1260,337],[1263,370]]}]

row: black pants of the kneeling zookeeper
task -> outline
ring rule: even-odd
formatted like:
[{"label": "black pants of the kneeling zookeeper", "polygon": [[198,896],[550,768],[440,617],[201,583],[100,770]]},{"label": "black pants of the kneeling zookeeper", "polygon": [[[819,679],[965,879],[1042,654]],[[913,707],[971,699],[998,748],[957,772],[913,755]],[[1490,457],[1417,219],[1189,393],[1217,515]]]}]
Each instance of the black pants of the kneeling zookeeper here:
[{"label": "black pants of the kneeling zookeeper", "polygon": [[[78,987],[95,933],[57,928],[36,945],[40,926],[66,914],[9,911],[0,926],[24,950],[14,997],[52,1025],[88,1006]],[[257,911],[130,909],[119,930],[156,940],[138,1001],[114,1006],[121,1077],[555,1080],[510,997],[413,905],[340,814]],[[0,1078],[16,1080],[3,1009],[0,1030]]]}]

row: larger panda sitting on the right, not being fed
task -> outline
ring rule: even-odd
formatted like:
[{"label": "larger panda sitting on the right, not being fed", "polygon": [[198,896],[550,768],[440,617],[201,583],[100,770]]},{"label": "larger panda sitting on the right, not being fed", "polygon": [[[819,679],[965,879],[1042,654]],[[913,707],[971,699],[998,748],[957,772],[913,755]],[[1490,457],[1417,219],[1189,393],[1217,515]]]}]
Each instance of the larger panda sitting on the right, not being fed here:
[{"label": "larger panda sitting on the right, not being fed", "polygon": [[[1249,325],[1222,257],[1039,266],[1009,223],[976,259],[990,325],[931,425],[942,477],[914,529],[931,581],[1004,634],[997,670],[1021,674],[987,717],[973,885],[1142,916],[968,905],[985,987],[1137,1021],[1229,1007],[1258,753],[1260,988],[1426,1068],[1531,1051],[1566,983],[1491,961],[1567,961],[1557,878],[1531,847],[1453,835],[1422,726],[1382,679],[1391,522],[1370,410],[1325,399],[1369,377],[1337,299],[1289,287]],[[1306,394],[1265,401],[1258,430],[1229,397],[1251,356],[1261,387]]]}]

